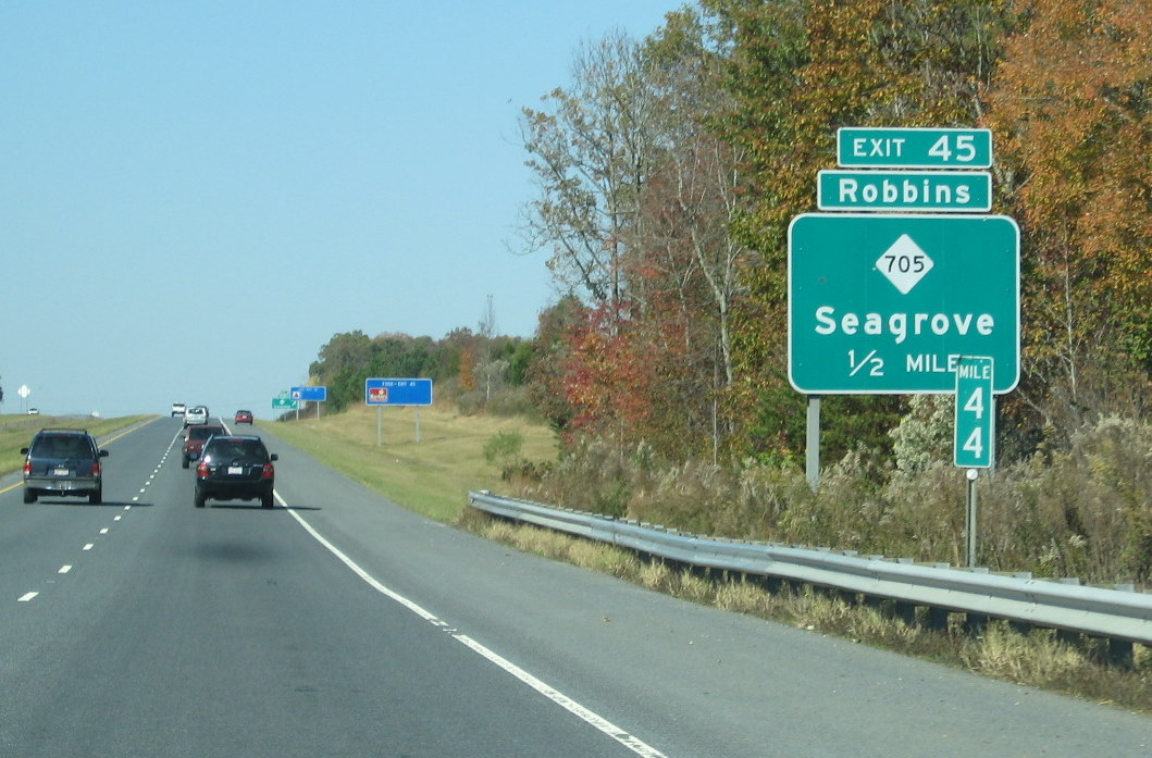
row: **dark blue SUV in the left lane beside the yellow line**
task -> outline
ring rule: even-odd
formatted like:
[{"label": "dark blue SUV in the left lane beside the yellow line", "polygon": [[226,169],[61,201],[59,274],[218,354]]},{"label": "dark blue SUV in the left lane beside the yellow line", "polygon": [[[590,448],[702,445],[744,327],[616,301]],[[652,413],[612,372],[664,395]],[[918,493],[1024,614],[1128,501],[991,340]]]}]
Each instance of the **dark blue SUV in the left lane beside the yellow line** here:
[{"label": "dark blue SUV in the left lane beside the yellow line", "polygon": [[97,505],[104,499],[100,458],[108,455],[82,429],[41,429],[24,455],[24,502],[40,495],[88,495]]}]

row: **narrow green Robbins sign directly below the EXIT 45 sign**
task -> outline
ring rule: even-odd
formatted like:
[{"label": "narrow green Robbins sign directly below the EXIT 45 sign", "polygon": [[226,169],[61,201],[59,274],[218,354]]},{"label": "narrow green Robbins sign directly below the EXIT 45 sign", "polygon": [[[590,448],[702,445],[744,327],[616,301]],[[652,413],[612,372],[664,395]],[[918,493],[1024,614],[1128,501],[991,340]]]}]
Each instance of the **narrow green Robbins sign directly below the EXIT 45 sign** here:
[{"label": "narrow green Robbins sign directly below the EXIT 45 sign", "polygon": [[821,170],[816,180],[821,211],[992,210],[988,172]]}]

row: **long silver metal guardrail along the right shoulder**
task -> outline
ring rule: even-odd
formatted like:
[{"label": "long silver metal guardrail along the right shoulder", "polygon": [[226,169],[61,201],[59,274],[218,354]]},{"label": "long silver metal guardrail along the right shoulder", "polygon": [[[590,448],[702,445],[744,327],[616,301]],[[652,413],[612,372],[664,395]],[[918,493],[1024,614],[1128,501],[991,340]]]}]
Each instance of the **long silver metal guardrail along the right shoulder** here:
[{"label": "long silver metal guardrail along the right shoulder", "polygon": [[1130,659],[1131,643],[1152,645],[1152,594],[1136,592],[1130,585],[1082,586],[1029,575],[957,569],[943,563],[916,564],[909,559],[726,541],[486,491],[469,492],[468,498],[473,508],[497,516],[689,566],[813,584],[970,617],[1007,619],[1030,627],[1104,637],[1121,658],[1127,653]]}]

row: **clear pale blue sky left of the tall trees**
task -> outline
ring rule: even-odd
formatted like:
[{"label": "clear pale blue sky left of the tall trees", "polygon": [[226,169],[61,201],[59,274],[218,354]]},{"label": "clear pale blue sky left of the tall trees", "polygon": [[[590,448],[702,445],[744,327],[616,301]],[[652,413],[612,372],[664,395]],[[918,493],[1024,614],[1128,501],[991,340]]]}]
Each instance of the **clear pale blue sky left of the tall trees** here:
[{"label": "clear pale blue sky left of the tall trees", "polygon": [[531,336],[520,111],[681,5],[0,0],[0,411],[268,417],[333,334],[488,295]]}]

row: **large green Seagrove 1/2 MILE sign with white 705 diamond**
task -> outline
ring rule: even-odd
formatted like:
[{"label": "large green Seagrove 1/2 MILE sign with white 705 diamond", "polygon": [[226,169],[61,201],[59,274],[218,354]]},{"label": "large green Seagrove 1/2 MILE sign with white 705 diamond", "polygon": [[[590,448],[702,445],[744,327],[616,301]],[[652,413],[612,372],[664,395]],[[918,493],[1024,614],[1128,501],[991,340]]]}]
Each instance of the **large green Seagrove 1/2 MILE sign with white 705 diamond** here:
[{"label": "large green Seagrove 1/2 MILE sign with white 705 diamond", "polygon": [[1020,380],[1020,228],[1003,215],[805,213],[788,228],[788,379],[806,394],[955,392],[961,356]]}]

